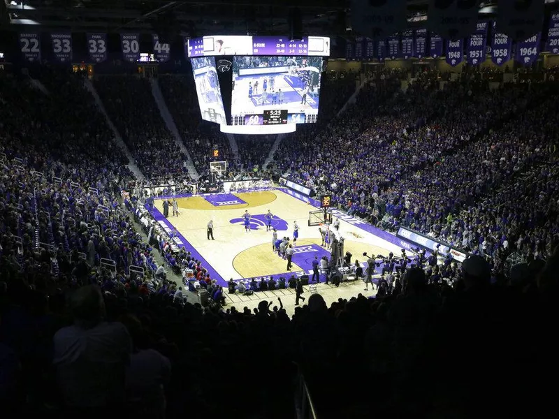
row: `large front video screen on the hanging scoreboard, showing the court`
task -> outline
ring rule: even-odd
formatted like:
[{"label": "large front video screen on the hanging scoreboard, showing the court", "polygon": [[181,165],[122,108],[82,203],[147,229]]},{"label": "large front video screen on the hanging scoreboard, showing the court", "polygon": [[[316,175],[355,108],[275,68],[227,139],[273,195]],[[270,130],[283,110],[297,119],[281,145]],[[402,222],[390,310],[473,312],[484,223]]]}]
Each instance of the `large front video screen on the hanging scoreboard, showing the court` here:
[{"label": "large front video screen on the hanging scoreboard, showing the court", "polygon": [[[288,123],[316,122],[322,57],[233,57],[231,114],[287,110]],[[312,118],[308,117],[313,115]]]}]

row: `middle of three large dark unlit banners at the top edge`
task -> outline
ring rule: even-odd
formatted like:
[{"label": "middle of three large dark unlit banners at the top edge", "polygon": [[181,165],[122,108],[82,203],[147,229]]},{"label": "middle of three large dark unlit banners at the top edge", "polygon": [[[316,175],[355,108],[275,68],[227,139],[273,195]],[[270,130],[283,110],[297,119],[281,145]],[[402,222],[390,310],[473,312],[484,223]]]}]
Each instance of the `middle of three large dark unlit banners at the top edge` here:
[{"label": "middle of three large dark unlit banners at the top edge", "polygon": [[429,0],[427,27],[444,39],[458,41],[476,29],[478,11],[479,0]]}]

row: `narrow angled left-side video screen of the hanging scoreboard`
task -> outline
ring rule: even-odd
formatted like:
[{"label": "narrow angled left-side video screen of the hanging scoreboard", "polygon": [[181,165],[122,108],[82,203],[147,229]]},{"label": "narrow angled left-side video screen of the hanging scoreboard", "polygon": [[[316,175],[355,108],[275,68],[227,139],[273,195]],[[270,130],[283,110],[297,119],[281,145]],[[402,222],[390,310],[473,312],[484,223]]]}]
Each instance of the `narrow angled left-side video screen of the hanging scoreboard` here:
[{"label": "narrow angled left-side video screen of the hanging scoreboard", "polygon": [[215,58],[198,57],[190,61],[202,119],[217,122],[217,124],[226,124],[222,92],[219,89],[219,80],[215,69]]}]

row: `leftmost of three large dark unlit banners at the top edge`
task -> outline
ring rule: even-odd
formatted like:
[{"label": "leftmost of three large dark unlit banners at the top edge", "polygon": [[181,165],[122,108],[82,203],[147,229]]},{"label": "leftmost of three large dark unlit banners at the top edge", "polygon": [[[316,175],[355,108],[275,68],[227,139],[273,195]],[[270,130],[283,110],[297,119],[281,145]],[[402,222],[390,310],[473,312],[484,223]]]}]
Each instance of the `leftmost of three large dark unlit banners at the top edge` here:
[{"label": "leftmost of three large dark unlit banners at the top edge", "polygon": [[351,29],[373,40],[385,39],[407,27],[407,0],[351,0]]}]

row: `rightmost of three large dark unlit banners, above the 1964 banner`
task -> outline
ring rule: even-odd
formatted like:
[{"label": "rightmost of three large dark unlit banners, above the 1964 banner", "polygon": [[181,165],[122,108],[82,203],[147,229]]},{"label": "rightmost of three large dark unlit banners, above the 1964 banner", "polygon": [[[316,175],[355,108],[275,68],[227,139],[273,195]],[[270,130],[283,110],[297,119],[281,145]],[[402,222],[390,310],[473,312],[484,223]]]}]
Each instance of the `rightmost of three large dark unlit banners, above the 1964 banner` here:
[{"label": "rightmost of three large dark unlit banners, above the 1964 banner", "polygon": [[497,24],[502,34],[513,41],[523,41],[542,30],[543,0],[500,0]]}]

